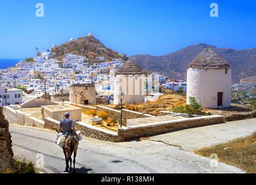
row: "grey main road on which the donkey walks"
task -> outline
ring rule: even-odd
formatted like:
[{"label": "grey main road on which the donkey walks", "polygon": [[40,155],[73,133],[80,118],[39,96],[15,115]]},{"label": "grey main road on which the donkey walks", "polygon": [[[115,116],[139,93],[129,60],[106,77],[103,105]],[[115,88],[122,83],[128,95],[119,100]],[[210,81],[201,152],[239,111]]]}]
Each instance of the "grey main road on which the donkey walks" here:
[{"label": "grey main road on which the donkey walks", "polygon": [[[54,143],[56,134],[37,128],[10,126],[15,157],[37,162],[44,154],[45,171],[63,173],[62,149]],[[80,142],[77,173],[242,173],[189,151],[150,140],[111,143],[85,138]]]}]

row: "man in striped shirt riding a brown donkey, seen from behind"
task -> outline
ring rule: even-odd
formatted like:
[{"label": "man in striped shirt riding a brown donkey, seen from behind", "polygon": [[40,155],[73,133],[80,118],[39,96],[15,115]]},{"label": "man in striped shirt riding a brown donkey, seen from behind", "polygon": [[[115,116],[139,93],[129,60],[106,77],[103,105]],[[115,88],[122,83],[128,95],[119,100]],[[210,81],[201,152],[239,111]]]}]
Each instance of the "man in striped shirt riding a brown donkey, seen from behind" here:
[{"label": "man in striped shirt riding a brown donkey, seen from behind", "polygon": [[[72,170],[72,154],[74,152],[74,168],[73,173],[75,173],[75,157],[77,156],[77,149],[78,149],[78,134],[75,130],[75,124],[73,120],[70,119],[70,113],[65,113],[65,118],[60,121],[60,135],[62,135],[62,138],[64,140],[64,146],[62,146],[63,153],[65,155],[66,160],[66,172],[68,171],[68,168],[70,167],[70,171]],[[60,145],[61,146],[61,145]],[[70,166],[68,165],[68,161],[70,162]]]}]

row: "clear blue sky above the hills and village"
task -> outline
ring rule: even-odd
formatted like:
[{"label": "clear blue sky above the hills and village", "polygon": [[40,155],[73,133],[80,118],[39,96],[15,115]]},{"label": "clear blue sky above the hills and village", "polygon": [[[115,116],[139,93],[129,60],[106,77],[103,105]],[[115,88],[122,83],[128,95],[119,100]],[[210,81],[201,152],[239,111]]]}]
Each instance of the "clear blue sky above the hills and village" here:
[{"label": "clear blue sky above the hills and village", "polygon": [[[45,5],[36,17],[35,5]],[[210,17],[210,4],[219,17]],[[256,2],[171,0],[0,1],[0,58],[25,58],[70,37],[93,32],[104,45],[128,56],[160,56],[196,43],[256,47]]]}]

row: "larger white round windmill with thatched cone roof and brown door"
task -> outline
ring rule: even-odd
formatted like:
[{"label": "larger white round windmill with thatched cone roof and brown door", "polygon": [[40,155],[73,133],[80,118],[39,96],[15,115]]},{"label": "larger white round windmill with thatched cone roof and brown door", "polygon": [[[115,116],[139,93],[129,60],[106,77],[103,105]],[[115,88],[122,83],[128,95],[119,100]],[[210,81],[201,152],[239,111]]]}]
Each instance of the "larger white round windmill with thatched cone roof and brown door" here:
[{"label": "larger white round windmill with thatched cone roof and brown door", "polygon": [[232,69],[212,47],[207,47],[187,69],[187,103],[194,97],[203,108],[231,106]]}]

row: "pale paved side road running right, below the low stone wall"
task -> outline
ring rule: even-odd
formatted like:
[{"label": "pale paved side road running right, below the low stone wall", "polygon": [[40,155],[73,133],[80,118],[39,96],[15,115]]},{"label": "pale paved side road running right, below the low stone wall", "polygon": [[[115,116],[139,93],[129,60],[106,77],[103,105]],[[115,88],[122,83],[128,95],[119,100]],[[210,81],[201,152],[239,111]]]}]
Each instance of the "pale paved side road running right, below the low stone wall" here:
[{"label": "pale paved side road running right, below the low stone wall", "polygon": [[232,121],[225,124],[185,129],[178,132],[157,135],[150,140],[158,140],[194,151],[203,147],[225,143],[229,140],[249,136],[256,131],[256,119]]}]

